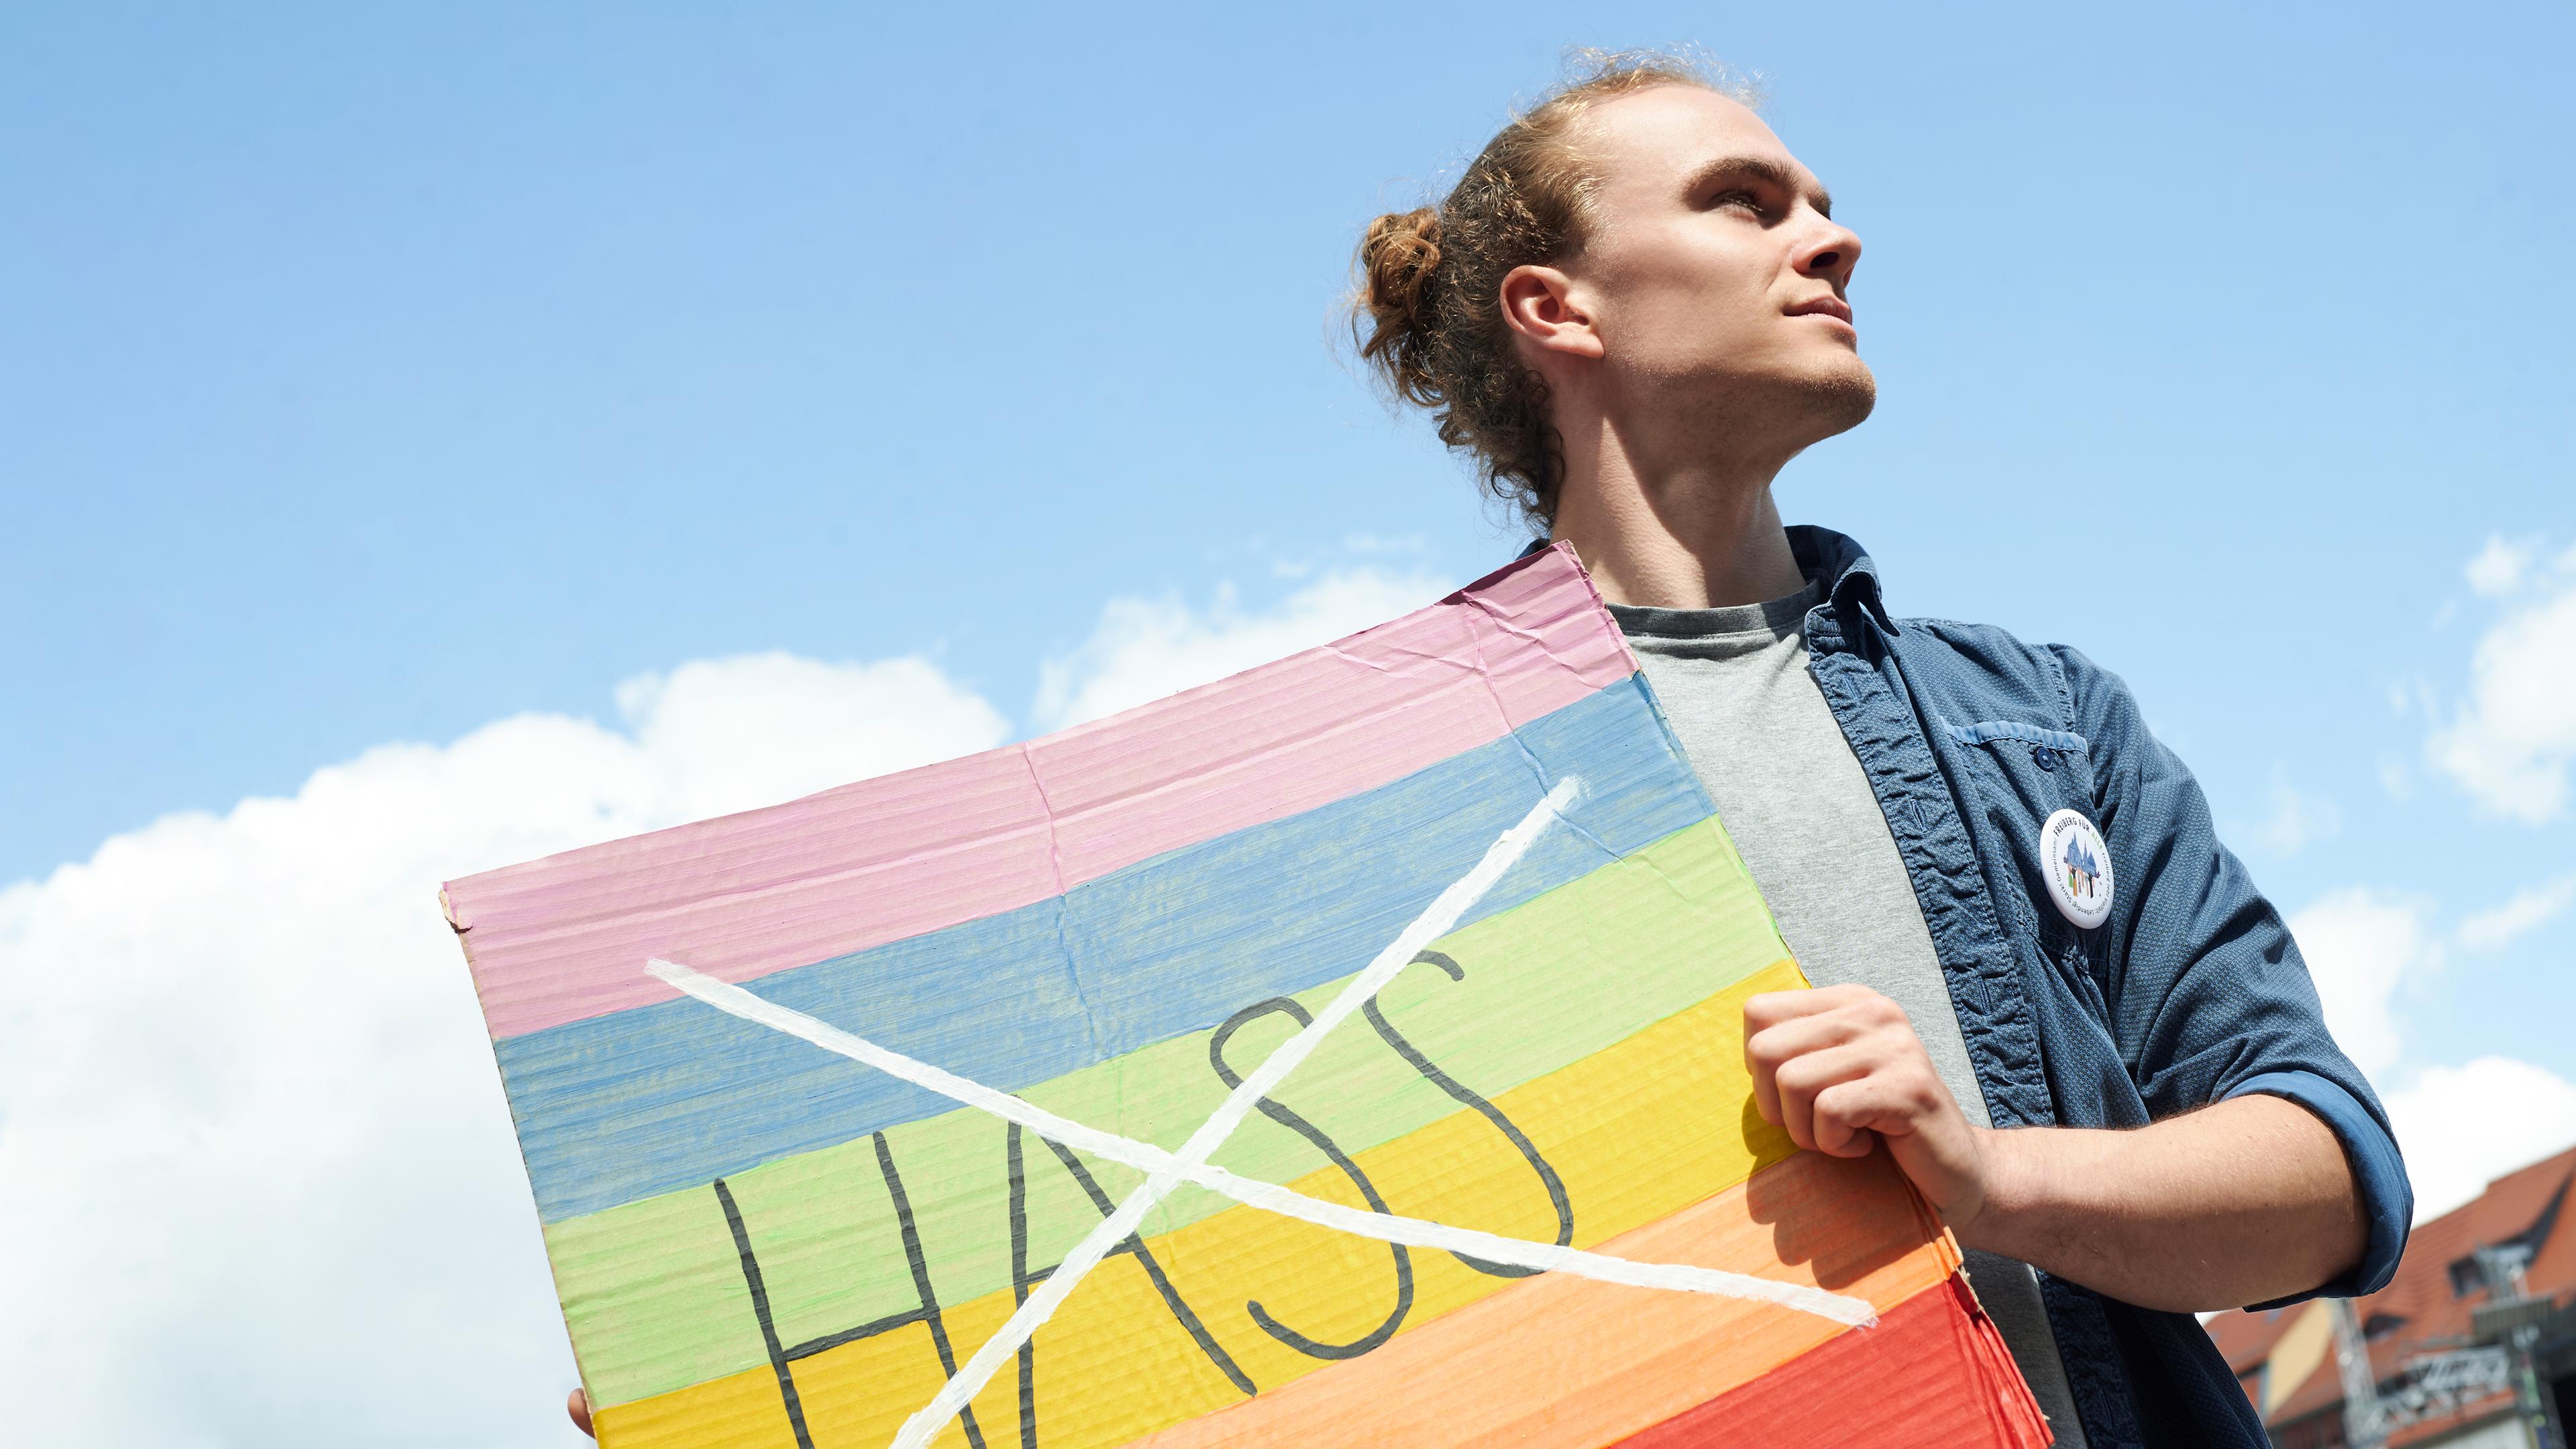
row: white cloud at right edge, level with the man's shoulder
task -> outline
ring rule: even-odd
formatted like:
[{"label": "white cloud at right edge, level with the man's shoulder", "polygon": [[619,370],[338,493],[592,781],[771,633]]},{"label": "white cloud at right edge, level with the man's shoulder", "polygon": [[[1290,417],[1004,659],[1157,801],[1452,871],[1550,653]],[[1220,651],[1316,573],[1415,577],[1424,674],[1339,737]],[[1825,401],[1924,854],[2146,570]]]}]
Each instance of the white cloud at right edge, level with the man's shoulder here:
[{"label": "white cloud at right edge, level with the man's shoulder", "polygon": [[2543,825],[2566,810],[2576,758],[2576,585],[2512,608],[2470,655],[2468,699],[2424,758],[2494,815]]}]

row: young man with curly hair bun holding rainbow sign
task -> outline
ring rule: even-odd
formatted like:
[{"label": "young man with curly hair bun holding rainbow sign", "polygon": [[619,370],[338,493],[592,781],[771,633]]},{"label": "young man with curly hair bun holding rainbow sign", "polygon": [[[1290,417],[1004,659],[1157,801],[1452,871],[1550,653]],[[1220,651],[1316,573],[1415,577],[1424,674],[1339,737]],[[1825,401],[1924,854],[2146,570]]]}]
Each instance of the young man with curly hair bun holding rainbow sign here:
[{"label": "young man with curly hair bun holding rainbow sign", "polygon": [[1762,1114],[1893,1155],[2058,1444],[2264,1444],[2190,1315],[2383,1287],[2388,1119],[2115,676],[1780,526],[1875,400],[1857,260],[1739,98],[1613,59],[1370,224],[1363,351],[1574,544],[1819,982],[1747,1003]]}]

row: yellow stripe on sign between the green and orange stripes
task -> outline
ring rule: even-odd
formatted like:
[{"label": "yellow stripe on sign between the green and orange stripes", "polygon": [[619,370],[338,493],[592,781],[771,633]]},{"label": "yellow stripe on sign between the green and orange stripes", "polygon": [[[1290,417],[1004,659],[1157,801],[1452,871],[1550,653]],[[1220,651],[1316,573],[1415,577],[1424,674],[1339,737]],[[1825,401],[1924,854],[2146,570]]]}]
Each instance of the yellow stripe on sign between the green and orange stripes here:
[{"label": "yellow stripe on sign between the green and orange stripes", "polygon": [[[1577,1248],[1672,1217],[1793,1152],[1788,1137],[1752,1111],[1752,1083],[1744,1073],[1744,998],[1801,985],[1806,980],[1798,967],[1780,962],[1494,1101],[1561,1176],[1574,1207]],[[1285,1127],[1255,1119],[1244,1132],[1285,1132]],[[1476,1111],[1453,1111],[1419,1132],[1358,1152],[1355,1160],[1391,1212],[1530,1240],[1556,1235],[1556,1212],[1538,1176]],[[1056,1171],[1054,1158],[1036,1142],[1028,1163],[1030,1173]],[[1291,1186],[1365,1207],[1350,1178],[1329,1165]],[[1252,1320],[1252,1302],[1316,1343],[1360,1341],[1396,1305],[1394,1253],[1386,1243],[1249,1207],[1149,1238],[1146,1248],[1224,1356],[1262,1390],[1311,1374],[1332,1359],[1309,1356],[1265,1333]],[[1777,1269],[1775,1261],[1723,1266]],[[1409,1269],[1414,1292],[1399,1333],[1515,1281],[1471,1271],[1448,1253],[1412,1250]],[[948,1310],[956,1359],[997,1330],[1010,1310],[1010,1292]],[[902,1421],[930,1403],[945,1382],[930,1333],[920,1323],[817,1354],[793,1372],[817,1449],[840,1444],[873,1449],[891,1441]],[[1177,1323],[1133,1256],[1095,1269],[1038,1330],[1033,1390],[1038,1441],[1048,1449],[1126,1444],[1244,1403]],[[742,1408],[757,1403],[762,1392],[775,1436],[757,1436]],[[778,1379],[770,1369],[726,1374],[600,1410],[600,1441],[608,1449],[683,1444],[788,1449],[793,1439],[778,1405]],[[997,1374],[976,1397],[976,1415],[989,1444],[1018,1441],[1018,1374]],[[956,1426],[951,1436],[963,1444]]]}]

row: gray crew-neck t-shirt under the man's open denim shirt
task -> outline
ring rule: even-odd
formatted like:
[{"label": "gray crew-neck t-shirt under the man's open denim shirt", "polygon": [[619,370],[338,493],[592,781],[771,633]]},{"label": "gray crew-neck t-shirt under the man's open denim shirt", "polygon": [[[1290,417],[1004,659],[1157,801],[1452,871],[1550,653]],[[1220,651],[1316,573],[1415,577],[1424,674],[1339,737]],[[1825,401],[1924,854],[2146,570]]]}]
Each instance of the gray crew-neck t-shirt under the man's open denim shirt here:
[{"label": "gray crew-neck t-shirt under the man's open denim shirt", "polygon": [[[1806,611],[1821,590],[1808,583],[1790,598],[1736,608],[1613,603],[1610,614],[1806,980],[1860,982],[1896,1000],[1968,1122],[1991,1127],[1914,882],[1860,755],[1806,673]],[[1968,1253],[1968,1276],[2058,1444],[2081,1449],[2084,1426],[2030,1266]]]}]

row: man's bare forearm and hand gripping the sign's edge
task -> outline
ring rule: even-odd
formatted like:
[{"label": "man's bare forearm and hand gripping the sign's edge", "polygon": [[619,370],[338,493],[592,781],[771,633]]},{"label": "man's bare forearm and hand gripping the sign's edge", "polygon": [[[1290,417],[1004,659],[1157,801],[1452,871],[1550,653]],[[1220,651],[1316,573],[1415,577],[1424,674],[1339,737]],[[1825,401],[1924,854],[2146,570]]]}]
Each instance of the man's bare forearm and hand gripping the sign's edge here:
[{"label": "man's bare forearm and hand gripping the sign's edge", "polygon": [[1904,1008],[1857,985],[1747,1000],[1744,1062],[1762,1116],[1801,1147],[1883,1142],[1968,1248],[2138,1307],[2303,1294],[2367,1243],[2334,1132],[2277,1096],[2130,1132],[1971,1127]]}]

